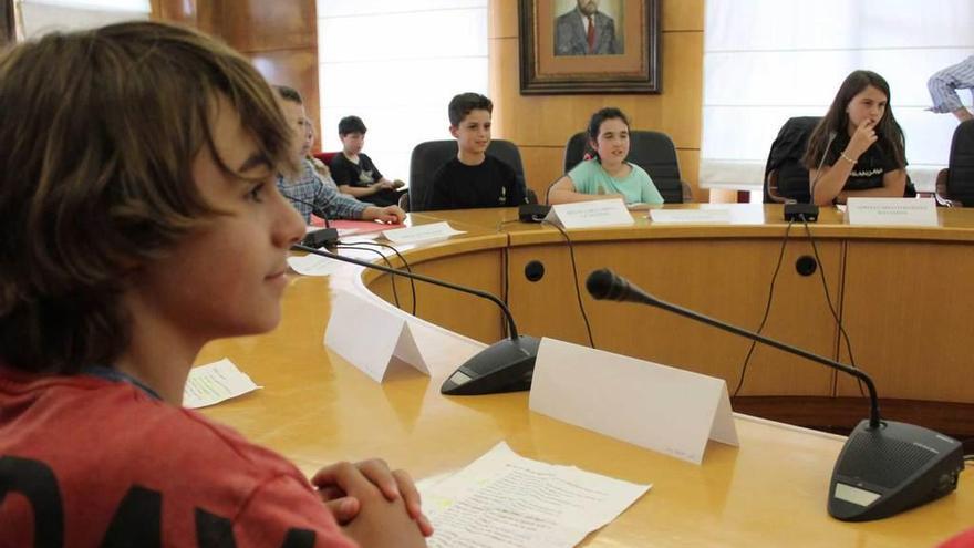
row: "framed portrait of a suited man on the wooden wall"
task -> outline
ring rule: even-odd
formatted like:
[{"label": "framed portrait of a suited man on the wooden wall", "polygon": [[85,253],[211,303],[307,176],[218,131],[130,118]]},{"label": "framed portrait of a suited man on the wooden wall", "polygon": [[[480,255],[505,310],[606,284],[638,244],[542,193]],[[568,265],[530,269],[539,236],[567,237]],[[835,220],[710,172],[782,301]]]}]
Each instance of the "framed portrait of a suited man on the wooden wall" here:
[{"label": "framed portrait of a suited man on the wooden wall", "polygon": [[660,0],[518,0],[522,95],[660,93]]}]

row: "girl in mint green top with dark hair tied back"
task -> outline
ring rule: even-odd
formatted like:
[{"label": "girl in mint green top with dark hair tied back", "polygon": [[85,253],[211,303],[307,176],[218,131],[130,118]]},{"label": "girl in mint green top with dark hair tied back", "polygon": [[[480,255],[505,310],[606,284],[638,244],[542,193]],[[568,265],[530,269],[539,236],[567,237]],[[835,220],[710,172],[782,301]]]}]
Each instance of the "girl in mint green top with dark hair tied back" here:
[{"label": "girl in mint green top with dark hair tied back", "polygon": [[595,158],[574,166],[551,186],[549,204],[621,198],[625,204],[662,204],[663,196],[642,167],[629,156],[629,120],[619,108],[592,115],[589,146]]}]

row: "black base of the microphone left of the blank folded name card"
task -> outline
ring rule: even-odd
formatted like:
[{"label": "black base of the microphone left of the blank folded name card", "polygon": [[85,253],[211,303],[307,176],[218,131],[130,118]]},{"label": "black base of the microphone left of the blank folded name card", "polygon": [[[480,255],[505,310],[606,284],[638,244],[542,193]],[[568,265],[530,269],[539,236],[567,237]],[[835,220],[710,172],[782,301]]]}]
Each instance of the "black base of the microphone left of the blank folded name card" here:
[{"label": "black base of the microphone left of the blank folded name card", "polygon": [[480,395],[530,390],[540,344],[540,339],[529,335],[495,342],[454,371],[439,393]]}]

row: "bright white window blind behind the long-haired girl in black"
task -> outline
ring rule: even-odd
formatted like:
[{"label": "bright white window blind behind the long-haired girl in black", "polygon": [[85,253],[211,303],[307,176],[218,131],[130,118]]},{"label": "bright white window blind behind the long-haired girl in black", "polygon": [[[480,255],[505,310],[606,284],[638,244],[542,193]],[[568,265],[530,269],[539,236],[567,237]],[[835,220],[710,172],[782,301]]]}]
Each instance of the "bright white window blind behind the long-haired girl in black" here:
[{"label": "bright white window blind behind the long-haired girl in black", "polygon": [[974,54],[974,2],[707,0],[705,17],[701,186],[760,188],[781,124],[823,115],[868,69],[890,84],[913,182],[932,189],[957,122],[926,112],[926,80]]}]

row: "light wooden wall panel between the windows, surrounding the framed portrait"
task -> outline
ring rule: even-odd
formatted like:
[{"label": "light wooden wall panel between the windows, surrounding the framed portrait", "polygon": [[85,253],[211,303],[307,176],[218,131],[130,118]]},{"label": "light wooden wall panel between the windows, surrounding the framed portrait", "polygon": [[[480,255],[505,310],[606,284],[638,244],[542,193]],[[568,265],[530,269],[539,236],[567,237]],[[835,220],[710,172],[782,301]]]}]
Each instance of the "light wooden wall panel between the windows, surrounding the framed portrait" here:
[{"label": "light wooden wall panel between the windows, surrounding the framed portrait", "polygon": [[490,2],[494,135],[521,148],[525,176],[536,192],[561,174],[560,151],[568,137],[583,130],[594,111],[618,106],[632,117],[634,128],[662,131],[673,138],[683,179],[694,188],[697,200],[707,200],[708,193],[697,185],[696,165],[703,105],[703,0],[661,1],[663,93],[531,96],[520,94],[517,1]]}]

